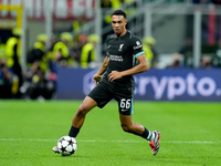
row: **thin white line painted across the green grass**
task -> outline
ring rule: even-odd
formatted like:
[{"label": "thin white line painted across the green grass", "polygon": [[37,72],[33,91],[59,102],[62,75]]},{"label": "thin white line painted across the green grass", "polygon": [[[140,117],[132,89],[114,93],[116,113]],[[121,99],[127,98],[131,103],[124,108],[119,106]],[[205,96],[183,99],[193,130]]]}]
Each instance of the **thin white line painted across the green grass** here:
[{"label": "thin white line painted across the green grass", "polygon": [[[41,139],[41,138],[0,138],[0,142],[57,142],[57,139]],[[77,142],[85,143],[144,143],[143,141],[96,141],[96,139],[77,139]],[[209,141],[162,141],[162,144],[221,144],[219,142]]]}]

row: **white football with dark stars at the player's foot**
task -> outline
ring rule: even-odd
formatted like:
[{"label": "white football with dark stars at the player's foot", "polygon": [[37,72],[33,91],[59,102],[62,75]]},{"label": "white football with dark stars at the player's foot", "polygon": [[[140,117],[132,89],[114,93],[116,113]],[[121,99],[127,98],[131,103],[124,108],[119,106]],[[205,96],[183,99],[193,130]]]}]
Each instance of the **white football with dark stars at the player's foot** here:
[{"label": "white football with dark stars at the player's foot", "polygon": [[62,156],[71,156],[77,149],[76,139],[71,136],[63,136],[59,139],[57,147]]}]

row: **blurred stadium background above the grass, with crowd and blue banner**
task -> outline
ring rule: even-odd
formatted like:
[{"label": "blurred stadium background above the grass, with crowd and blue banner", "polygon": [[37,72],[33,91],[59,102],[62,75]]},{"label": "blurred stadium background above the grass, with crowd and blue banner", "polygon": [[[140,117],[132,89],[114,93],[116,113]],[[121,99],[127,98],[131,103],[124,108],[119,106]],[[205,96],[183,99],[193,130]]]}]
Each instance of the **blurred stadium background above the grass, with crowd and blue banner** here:
[{"label": "blurred stadium background above the grass, with crowd and blue banner", "polygon": [[150,66],[135,76],[135,98],[219,102],[220,3],[0,0],[0,97],[82,100],[105,58],[105,38],[113,33],[109,15],[123,9]]}]

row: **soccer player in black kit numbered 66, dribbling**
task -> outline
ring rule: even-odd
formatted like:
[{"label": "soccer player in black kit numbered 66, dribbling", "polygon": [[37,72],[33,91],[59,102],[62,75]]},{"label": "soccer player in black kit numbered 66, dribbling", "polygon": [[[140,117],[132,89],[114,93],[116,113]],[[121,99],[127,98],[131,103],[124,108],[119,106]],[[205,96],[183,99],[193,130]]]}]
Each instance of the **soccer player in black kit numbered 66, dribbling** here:
[{"label": "soccer player in black kit numbered 66, dribbling", "polygon": [[[126,13],[123,10],[116,10],[112,13],[114,34],[107,37],[106,58],[93,76],[96,86],[84,98],[75,113],[69,136],[77,136],[86,114],[92,108],[95,106],[102,108],[114,98],[118,103],[122,128],[147,139],[152,155],[157,155],[160,133],[158,131],[150,132],[145,126],[133,122],[135,89],[133,75],[146,72],[148,66],[140,40],[126,29]],[[135,59],[138,64],[135,63]],[[52,149],[59,153],[57,146]]]}]

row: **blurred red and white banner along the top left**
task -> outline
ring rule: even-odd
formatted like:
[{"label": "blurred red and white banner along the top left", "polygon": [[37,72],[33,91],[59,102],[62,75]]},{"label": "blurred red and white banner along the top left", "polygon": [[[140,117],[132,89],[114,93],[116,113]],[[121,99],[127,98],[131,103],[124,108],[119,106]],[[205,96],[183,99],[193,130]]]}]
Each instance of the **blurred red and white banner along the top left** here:
[{"label": "blurred red and white banner along the top left", "polygon": [[[73,20],[94,18],[96,0],[0,0],[1,6],[23,6],[30,20],[41,20],[45,17],[45,9],[53,12],[54,20]],[[14,11],[0,11],[0,18],[14,18]]]}]

